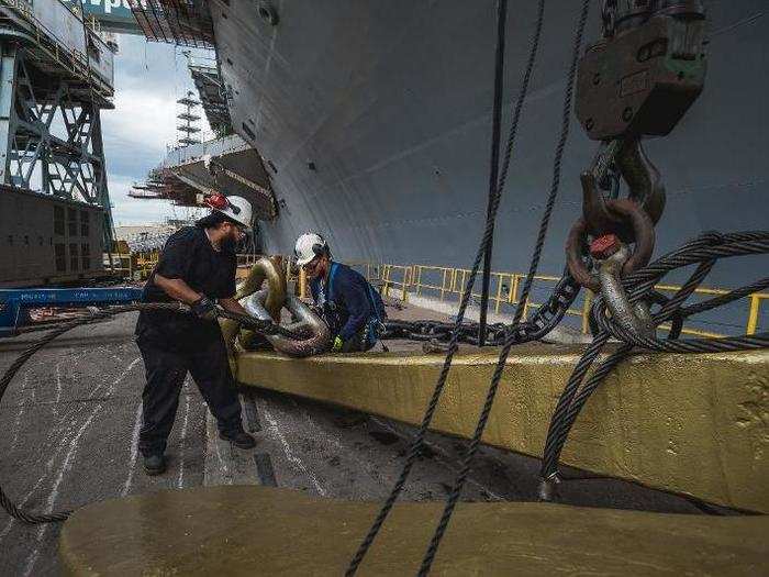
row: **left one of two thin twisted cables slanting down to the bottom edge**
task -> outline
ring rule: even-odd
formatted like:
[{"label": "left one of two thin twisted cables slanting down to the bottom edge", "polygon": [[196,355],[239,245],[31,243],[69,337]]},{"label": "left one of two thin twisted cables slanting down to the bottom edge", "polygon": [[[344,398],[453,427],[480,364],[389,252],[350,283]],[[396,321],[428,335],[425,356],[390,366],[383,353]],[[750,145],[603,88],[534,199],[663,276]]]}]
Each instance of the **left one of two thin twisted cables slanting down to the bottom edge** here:
[{"label": "left one of two thin twisted cables slanting down to the bottom edge", "polygon": [[[505,5],[502,5],[505,4]],[[526,70],[524,73],[523,77],[523,82],[521,85],[521,90],[519,91],[517,99],[515,101],[515,112],[513,115],[513,121],[510,126],[510,132],[508,134],[508,143],[505,146],[505,155],[503,159],[503,168],[500,175],[500,185],[498,185],[495,188],[490,187],[489,190],[489,196],[490,196],[490,201],[489,201],[489,210],[487,212],[487,220],[486,220],[486,228],[483,230],[483,235],[481,237],[481,241],[478,246],[478,251],[476,253],[476,258],[475,262],[472,263],[472,267],[470,269],[470,276],[467,280],[465,291],[462,292],[461,296],[461,301],[459,303],[459,311],[457,312],[457,319],[456,322],[454,323],[454,329],[452,330],[452,336],[450,341],[448,343],[448,351],[446,353],[446,357],[444,359],[443,367],[441,369],[441,374],[438,375],[437,382],[435,385],[435,388],[433,390],[433,393],[431,396],[430,402],[427,403],[427,409],[425,410],[425,413],[422,418],[422,423],[420,424],[420,428],[416,431],[416,434],[414,435],[414,439],[412,440],[411,446],[409,448],[409,453],[406,455],[406,458],[403,463],[403,468],[401,469],[401,474],[395,480],[395,484],[393,485],[390,495],[388,496],[387,500],[382,504],[381,509],[379,510],[379,513],[377,514],[376,519],[374,520],[374,523],[371,524],[368,533],[361,541],[360,545],[358,546],[357,551],[355,552],[355,555],[349,562],[349,565],[347,567],[347,570],[345,572],[345,575],[347,577],[352,577],[353,575],[356,574],[358,570],[358,567],[360,566],[360,563],[363,562],[364,557],[366,556],[366,553],[370,548],[371,544],[374,543],[374,540],[377,537],[379,534],[379,531],[384,523],[384,520],[390,513],[390,510],[392,509],[393,504],[395,503],[395,500],[398,499],[398,496],[401,493],[403,490],[403,487],[405,485],[406,479],[411,475],[411,469],[414,466],[414,463],[416,462],[417,456],[420,455],[424,437],[427,433],[427,429],[430,426],[430,423],[433,420],[433,415],[435,413],[435,410],[437,409],[438,401],[441,399],[441,395],[443,393],[443,389],[446,385],[446,378],[448,377],[448,371],[452,367],[452,360],[454,359],[454,355],[457,352],[458,348],[458,343],[459,343],[459,337],[461,334],[462,330],[462,321],[465,319],[465,311],[467,310],[467,306],[470,301],[470,295],[472,293],[472,286],[476,282],[476,277],[478,276],[478,270],[480,268],[481,259],[483,258],[486,247],[489,245],[489,240],[493,235],[493,225],[494,225],[494,220],[497,219],[497,212],[499,210],[499,204],[500,204],[500,198],[502,196],[502,191],[504,188],[504,182],[506,181],[508,177],[508,170],[510,167],[510,159],[512,156],[513,152],[513,146],[515,143],[515,137],[517,134],[517,126],[519,126],[519,121],[521,116],[521,111],[523,110],[523,103],[526,99],[526,96],[528,93],[528,85],[531,81],[532,77],[532,71],[534,68],[534,63],[536,62],[536,56],[539,47],[539,37],[542,33],[542,27],[544,24],[544,4],[545,0],[539,0],[539,8],[537,12],[537,20],[535,24],[535,32],[534,36],[532,38],[532,44],[530,47],[530,53],[528,53],[528,59],[526,64]],[[500,0],[500,5],[499,5],[499,13],[500,14],[505,14],[506,13],[506,0]],[[501,21],[501,19],[498,20],[498,34],[503,35],[505,33],[505,24],[504,22]],[[498,41],[499,42],[499,41]],[[502,75],[503,74],[503,66],[504,62],[503,59],[501,62],[498,62],[498,66],[495,69],[495,75]],[[492,134],[493,137],[493,134]]]}]

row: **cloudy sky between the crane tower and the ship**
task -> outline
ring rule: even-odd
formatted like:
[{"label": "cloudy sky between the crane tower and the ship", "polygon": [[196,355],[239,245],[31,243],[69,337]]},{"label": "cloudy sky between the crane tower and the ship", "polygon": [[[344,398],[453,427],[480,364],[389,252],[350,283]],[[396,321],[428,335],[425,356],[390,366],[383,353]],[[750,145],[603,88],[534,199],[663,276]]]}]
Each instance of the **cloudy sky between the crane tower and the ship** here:
[{"label": "cloudy sky between the crane tower and the ship", "polygon": [[[160,164],[166,146],[177,138],[177,99],[194,90],[182,48],[146,42],[143,36],[118,35],[114,62],[114,110],[101,115],[108,184],[115,226],[160,223],[185,217],[170,203],[127,196],[133,182]],[[194,54],[205,55],[203,51]],[[212,53],[209,54],[212,56]],[[194,92],[198,98],[197,91]],[[200,111],[201,115],[202,110]],[[208,130],[204,119],[200,126]]]}]

